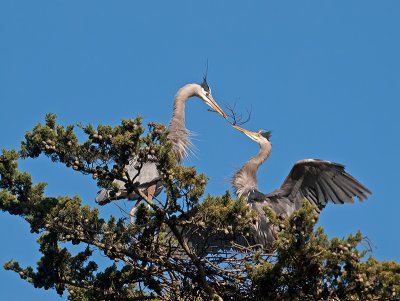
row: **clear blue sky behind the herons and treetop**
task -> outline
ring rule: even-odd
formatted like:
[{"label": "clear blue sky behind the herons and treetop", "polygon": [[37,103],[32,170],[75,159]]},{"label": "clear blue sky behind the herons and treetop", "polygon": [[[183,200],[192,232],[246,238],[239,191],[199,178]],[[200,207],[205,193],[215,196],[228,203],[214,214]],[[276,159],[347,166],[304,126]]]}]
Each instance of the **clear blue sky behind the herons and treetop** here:
[{"label": "clear blue sky behind the herons and treetop", "polygon": [[[175,92],[201,81],[208,59],[214,98],[251,107],[248,129],[273,131],[260,190],[277,188],[299,159],[345,164],[373,195],[328,206],[319,224],[331,237],[360,229],[374,256],[400,261],[399,28],[398,1],[2,1],[0,148],[18,147],[46,112],[64,124],[116,125],[137,113],[167,123]],[[199,100],[186,114],[197,151],[185,165],[222,194],[258,145]],[[88,177],[46,159],[21,168],[48,182],[48,194],[95,205]],[[35,239],[0,213],[1,263],[34,265]],[[0,298],[59,299],[3,269]]]}]

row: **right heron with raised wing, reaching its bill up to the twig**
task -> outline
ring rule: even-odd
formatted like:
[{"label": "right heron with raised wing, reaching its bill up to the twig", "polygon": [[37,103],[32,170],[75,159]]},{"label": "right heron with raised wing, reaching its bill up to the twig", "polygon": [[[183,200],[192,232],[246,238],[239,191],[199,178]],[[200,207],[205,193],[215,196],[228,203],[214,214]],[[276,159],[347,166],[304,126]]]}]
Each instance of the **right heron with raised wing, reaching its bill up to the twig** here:
[{"label": "right heron with raised wing, reaching its bill up to the twig", "polygon": [[285,181],[277,190],[263,194],[257,186],[257,170],[269,157],[272,144],[270,132],[250,132],[233,125],[260,145],[260,151],[248,160],[232,177],[238,197],[245,197],[259,219],[252,228],[252,243],[269,246],[277,233],[269,222],[263,207],[270,207],[278,216],[288,217],[301,207],[303,200],[315,205],[319,213],[330,201],[335,204],[360,201],[371,192],[344,170],[344,165],[318,159],[300,160],[295,163]]}]

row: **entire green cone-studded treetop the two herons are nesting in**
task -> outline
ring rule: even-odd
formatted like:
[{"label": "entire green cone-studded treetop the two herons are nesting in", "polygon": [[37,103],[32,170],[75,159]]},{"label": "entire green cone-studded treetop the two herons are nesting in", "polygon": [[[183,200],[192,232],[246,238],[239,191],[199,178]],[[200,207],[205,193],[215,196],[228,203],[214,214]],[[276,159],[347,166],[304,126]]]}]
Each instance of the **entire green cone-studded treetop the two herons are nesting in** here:
[{"label": "entire green cone-studded treetop the two herons are nesting in", "polygon": [[[87,138],[80,142],[76,131]],[[308,203],[287,219],[265,208],[279,238],[272,252],[237,245],[251,234],[257,214],[244,199],[202,196],[207,178],[193,167],[176,164],[163,125],[141,118],[121,125],[57,124],[48,114],[45,124],[27,132],[19,152],[0,156],[0,209],[24,218],[42,257],[35,267],[16,261],[4,267],[37,288],[68,292],[83,300],[395,300],[400,295],[400,265],[378,262],[362,248],[361,233],[328,239]],[[18,160],[47,156],[76,172],[91,175],[101,187],[113,180],[137,191],[126,179],[125,164],[156,162],[165,194],[147,200],[128,216],[100,218],[79,197],[44,194],[45,183],[33,184],[18,170]],[[224,247],[198,252],[191,236],[204,248],[223,240]],[[81,251],[73,254],[72,243]],[[99,268],[93,252],[109,259]]]}]

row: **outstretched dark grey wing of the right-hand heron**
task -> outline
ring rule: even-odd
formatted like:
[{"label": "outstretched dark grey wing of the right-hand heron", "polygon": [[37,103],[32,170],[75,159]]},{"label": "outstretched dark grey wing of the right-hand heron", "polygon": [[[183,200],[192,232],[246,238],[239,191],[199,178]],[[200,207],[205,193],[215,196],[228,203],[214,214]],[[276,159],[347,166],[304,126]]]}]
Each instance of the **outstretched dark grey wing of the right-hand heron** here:
[{"label": "outstretched dark grey wing of the right-hand heron", "polygon": [[282,186],[267,197],[285,197],[292,202],[303,199],[319,209],[331,201],[335,204],[360,201],[371,192],[344,170],[344,165],[325,160],[307,159],[296,162]]}]

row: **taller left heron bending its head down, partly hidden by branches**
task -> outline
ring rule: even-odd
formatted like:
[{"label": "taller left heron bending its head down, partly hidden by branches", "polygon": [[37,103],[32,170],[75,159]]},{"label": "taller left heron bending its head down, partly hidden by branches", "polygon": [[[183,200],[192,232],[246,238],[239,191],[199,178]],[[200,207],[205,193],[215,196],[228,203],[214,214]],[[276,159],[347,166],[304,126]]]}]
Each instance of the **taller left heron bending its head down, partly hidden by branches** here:
[{"label": "taller left heron bending its head down, partly hidden by branches", "polygon": [[[172,143],[172,150],[178,162],[182,162],[182,160],[187,156],[191,146],[189,132],[185,128],[185,104],[192,96],[199,97],[209,105],[212,110],[226,118],[225,112],[218,106],[211,95],[211,88],[207,83],[206,77],[204,77],[201,84],[187,84],[180,88],[175,95],[172,118],[168,127],[168,139]],[[161,178],[156,164],[154,162],[147,162],[139,171],[135,168],[136,165],[138,165],[137,158],[133,157],[130,159],[129,164],[125,166],[129,177],[135,179],[136,183],[139,183],[137,188],[142,193],[150,198],[156,197],[162,190]],[[103,205],[111,200],[117,199],[140,201],[141,197],[137,193],[128,193],[123,181],[115,180],[113,184],[118,188],[118,191],[116,193],[114,192],[114,194],[111,190],[100,190],[96,196],[97,203]],[[134,211],[138,202],[131,210],[131,221],[133,221]]]}]

